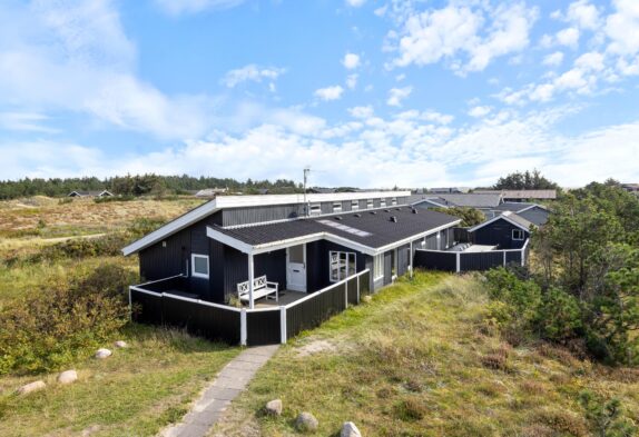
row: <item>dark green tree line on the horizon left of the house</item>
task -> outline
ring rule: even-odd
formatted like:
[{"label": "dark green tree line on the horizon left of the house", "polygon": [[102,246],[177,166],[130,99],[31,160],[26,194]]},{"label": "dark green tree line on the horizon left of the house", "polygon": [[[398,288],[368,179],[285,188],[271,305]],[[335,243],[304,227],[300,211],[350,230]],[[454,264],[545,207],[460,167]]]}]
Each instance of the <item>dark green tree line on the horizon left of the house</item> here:
[{"label": "dark green tree line on the horizon left of the house", "polygon": [[273,193],[301,192],[302,187],[293,180],[277,179],[239,181],[233,178],[160,176],[155,173],[116,176],[105,179],[85,178],[24,178],[0,181],[0,199],[16,199],[30,196],[63,197],[69,192],[109,190],[118,196],[184,195],[206,188],[228,188],[229,191],[258,193],[267,189]]}]

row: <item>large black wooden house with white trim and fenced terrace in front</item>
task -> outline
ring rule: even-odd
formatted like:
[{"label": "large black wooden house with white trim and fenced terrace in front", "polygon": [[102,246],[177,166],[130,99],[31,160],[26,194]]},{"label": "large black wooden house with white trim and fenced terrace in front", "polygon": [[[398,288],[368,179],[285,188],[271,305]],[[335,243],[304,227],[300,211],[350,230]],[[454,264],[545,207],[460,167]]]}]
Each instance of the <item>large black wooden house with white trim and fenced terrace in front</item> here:
[{"label": "large black wooden house with white trim and fenced terrace in front", "polygon": [[[456,217],[409,191],[220,196],[122,249],[138,321],[229,344],[284,342],[454,245]],[[422,266],[427,267],[427,266]]]}]

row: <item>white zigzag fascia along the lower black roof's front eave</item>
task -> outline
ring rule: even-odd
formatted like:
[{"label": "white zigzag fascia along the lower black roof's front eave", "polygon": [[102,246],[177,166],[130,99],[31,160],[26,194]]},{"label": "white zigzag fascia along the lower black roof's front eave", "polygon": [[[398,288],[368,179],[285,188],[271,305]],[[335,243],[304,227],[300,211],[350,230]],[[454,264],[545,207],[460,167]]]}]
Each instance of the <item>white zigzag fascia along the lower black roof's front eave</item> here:
[{"label": "white zigzag fascia along the lower black roof's front eave", "polygon": [[247,255],[259,255],[259,254],[265,254],[265,252],[269,252],[269,251],[274,251],[274,250],[285,249],[285,248],[291,247],[291,246],[297,246],[297,245],[303,245],[303,244],[318,241],[318,240],[327,240],[331,242],[335,242],[337,245],[348,247],[353,250],[357,250],[362,254],[375,256],[375,255],[383,254],[386,250],[406,245],[406,244],[409,244],[413,240],[416,240],[419,238],[424,238],[429,235],[439,232],[440,230],[443,230],[443,229],[450,228],[452,226],[459,225],[461,221],[462,221],[461,219],[456,219],[456,220],[450,221],[448,224],[441,225],[436,228],[431,228],[426,231],[412,235],[410,237],[403,238],[403,239],[397,240],[397,241],[393,241],[392,244],[389,244],[386,246],[382,246],[379,248],[373,248],[373,247],[370,247],[366,245],[362,245],[361,242],[350,240],[347,238],[344,238],[342,236],[337,236],[337,235],[332,234],[330,231],[314,232],[314,234],[308,234],[306,236],[287,238],[287,239],[283,239],[283,240],[277,240],[277,241],[272,241],[272,242],[266,242],[266,244],[255,245],[255,246],[249,245],[247,242],[244,242],[237,238],[230,237],[229,235],[226,235],[224,232],[220,232],[219,230],[212,228],[210,226],[208,226],[206,228],[206,235],[207,235],[207,237],[213,238],[216,241],[219,241],[226,246],[230,246],[234,249],[237,249],[240,252],[244,252]]}]

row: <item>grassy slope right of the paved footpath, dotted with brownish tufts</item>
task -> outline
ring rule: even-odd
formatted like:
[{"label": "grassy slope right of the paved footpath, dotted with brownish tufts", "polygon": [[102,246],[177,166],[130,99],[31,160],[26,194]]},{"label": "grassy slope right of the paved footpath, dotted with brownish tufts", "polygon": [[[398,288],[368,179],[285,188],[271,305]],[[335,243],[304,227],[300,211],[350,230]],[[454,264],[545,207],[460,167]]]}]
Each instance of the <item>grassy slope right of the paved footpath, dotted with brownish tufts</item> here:
[{"label": "grassy slope right of the paved footpath, dotted with brownish tufts", "polygon": [[[294,434],[302,410],[334,435],[588,435],[577,395],[618,396],[639,421],[639,371],[579,361],[561,349],[515,349],[483,322],[474,278],[419,274],[282,348],[212,435]],[[307,345],[333,350],[301,356]],[[497,367],[497,368],[495,368]],[[282,398],[282,418],[260,416]]]}]

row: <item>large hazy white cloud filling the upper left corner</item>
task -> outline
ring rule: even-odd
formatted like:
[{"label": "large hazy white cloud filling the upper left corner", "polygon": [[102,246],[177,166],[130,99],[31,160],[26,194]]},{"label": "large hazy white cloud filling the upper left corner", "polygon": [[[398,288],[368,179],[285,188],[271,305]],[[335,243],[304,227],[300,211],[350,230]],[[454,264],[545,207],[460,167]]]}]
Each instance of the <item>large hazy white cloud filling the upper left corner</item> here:
[{"label": "large hazy white cloud filling the upper left corner", "polygon": [[[66,110],[161,138],[208,129],[213,101],[167,96],[135,76],[137,49],[109,1],[46,2],[3,11],[0,99]],[[4,23],[3,22],[3,23]]]}]

